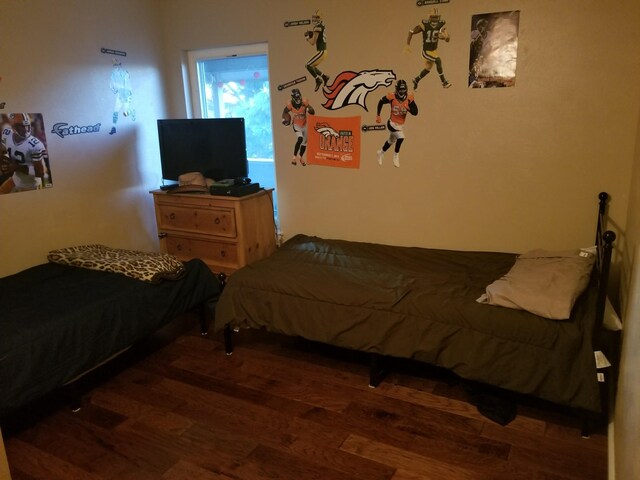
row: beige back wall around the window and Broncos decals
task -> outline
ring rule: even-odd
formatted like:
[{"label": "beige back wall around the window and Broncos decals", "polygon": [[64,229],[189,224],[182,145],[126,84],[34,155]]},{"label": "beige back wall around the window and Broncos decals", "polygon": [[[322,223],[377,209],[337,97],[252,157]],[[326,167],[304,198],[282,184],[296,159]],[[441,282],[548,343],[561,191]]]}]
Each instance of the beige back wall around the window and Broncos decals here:
[{"label": "beige back wall around the window and Broncos decals", "polygon": [[[612,194],[611,213],[626,220],[629,174],[640,86],[635,79],[640,34],[637,2],[607,9],[602,2],[456,1],[441,6],[452,40],[440,54],[453,88],[435,74],[416,92],[420,114],[409,118],[402,167],[376,163],[384,132],[363,134],[362,167],[294,168],[292,133],[278,114],[289,98],[275,85],[308,75],[312,49],[304,28],[285,20],[308,18],[311,1],[233,2],[165,0],[164,38],[172,114],[184,113],[179,67],[183,50],[267,41],[272,80],[280,215],[285,237],[305,232],[330,237],[444,248],[523,251],[593,242],[597,193]],[[321,2],[329,56],[323,70],[390,68],[410,79],[421,67],[402,54],[409,28],[424,7],[383,0]],[[579,7],[579,8],[577,8]],[[517,86],[468,89],[471,15],[520,9]],[[198,15],[193,15],[197,10]],[[391,14],[392,13],[392,14]],[[611,48],[624,44],[625,49]],[[300,85],[316,109],[324,97]],[[382,89],[381,89],[382,90]],[[347,107],[329,115],[361,115],[373,123],[382,91],[366,112]]]}]

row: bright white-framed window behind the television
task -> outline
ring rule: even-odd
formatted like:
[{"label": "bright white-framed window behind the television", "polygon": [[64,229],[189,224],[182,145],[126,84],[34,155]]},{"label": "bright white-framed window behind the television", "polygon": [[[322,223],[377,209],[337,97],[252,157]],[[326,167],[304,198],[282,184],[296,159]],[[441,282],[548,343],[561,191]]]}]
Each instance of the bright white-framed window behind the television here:
[{"label": "bright white-framed window behind the television", "polygon": [[188,60],[193,116],[245,119],[249,177],[274,189],[277,222],[267,45],[191,51]]}]

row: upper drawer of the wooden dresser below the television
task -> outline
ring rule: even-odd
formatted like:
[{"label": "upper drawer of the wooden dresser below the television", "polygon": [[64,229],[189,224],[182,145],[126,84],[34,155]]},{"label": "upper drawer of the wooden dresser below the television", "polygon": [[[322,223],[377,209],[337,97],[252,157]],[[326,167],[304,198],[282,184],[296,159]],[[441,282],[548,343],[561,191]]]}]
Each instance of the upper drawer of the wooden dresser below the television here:
[{"label": "upper drawer of the wooden dresser below the television", "polygon": [[235,212],[231,208],[193,208],[159,204],[159,229],[180,230],[235,238]]}]

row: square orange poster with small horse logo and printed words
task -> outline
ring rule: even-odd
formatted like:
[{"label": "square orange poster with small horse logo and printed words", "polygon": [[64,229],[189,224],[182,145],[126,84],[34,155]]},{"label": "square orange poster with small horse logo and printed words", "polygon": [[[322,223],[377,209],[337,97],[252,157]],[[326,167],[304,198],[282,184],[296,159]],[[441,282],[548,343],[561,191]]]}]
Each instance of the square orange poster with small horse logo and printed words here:
[{"label": "square orange poster with small horse logo and printed words", "polygon": [[307,117],[307,163],[360,168],[360,117]]}]

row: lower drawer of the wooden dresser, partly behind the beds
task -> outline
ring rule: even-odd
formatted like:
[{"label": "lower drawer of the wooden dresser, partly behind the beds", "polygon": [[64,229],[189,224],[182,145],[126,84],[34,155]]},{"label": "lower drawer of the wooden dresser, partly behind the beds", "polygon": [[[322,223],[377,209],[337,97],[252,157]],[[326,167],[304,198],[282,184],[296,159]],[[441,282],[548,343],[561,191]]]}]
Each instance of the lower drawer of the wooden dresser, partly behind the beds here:
[{"label": "lower drawer of the wooden dresser, partly behind the beds", "polygon": [[163,238],[167,253],[180,259],[200,258],[207,264],[236,267],[238,247],[233,243],[167,234]]}]

